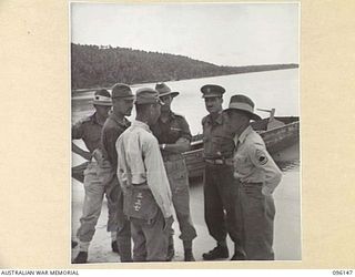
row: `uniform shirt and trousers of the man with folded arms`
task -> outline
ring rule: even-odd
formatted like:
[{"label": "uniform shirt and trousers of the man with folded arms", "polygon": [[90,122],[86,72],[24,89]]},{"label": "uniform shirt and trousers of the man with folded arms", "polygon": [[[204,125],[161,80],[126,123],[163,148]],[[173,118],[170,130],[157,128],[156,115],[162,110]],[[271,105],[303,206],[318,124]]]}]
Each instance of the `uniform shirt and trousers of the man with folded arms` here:
[{"label": "uniform shirt and trousers of the man with folded arms", "polygon": [[[173,112],[170,112],[166,122],[159,119],[152,132],[159,144],[174,144],[181,137],[190,142],[192,137],[186,120]],[[162,150],[162,155],[181,230],[180,238],[184,242],[192,240],[196,237],[196,230],[190,213],[189,174],[185,160],[181,153],[164,150]]]}]

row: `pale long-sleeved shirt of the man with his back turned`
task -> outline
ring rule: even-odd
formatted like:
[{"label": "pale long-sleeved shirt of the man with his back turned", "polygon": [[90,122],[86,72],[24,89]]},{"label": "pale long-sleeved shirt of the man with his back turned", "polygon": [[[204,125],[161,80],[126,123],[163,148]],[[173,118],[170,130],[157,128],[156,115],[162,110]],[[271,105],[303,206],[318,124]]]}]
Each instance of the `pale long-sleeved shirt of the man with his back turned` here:
[{"label": "pale long-sleeved shirt of the man with his back turned", "polygon": [[115,143],[118,151],[118,178],[124,189],[132,184],[148,184],[165,218],[172,216],[172,196],[159,148],[149,126],[134,121]]}]

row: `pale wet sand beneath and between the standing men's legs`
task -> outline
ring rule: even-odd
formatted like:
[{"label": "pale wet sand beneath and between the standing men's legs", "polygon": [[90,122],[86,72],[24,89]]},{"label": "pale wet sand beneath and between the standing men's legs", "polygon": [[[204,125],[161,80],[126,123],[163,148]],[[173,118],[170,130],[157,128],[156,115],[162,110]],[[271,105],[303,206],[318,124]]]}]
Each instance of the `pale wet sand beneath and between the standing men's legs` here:
[{"label": "pale wet sand beneath and between the standing men's legs", "polygon": [[[285,160],[298,153],[298,147],[292,147],[281,153],[278,158]],[[292,157],[291,160],[293,160]],[[284,176],[282,183],[274,193],[276,215],[274,228],[274,252],[276,260],[301,260],[301,197],[300,197],[300,162],[286,162],[282,164]],[[79,227],[81,216],[82,201],[84,197],[83,185],[73,179],[72,183],[72,236],[75,238],[75,232]],[[201,182],[191,184],[190,204],[194,226],[197,237],[193,240],[194,256],[196,260],[202,260],[202,254],[209,252],[215,246],[214,239],[209,235],[204,223],[203,213],[203,185]],[[97,232],[89,248],[88,263],[118,263],[120,256],[111,250],[111,237],[106,232],[108,208],[104,201],[102,213],[97,225]],[[182,242],[179,239],[180,230],[178,222],[173,224],[175,229],[175,261],[183,260]],[[229,240],[230,256],[232,256],[234,246]],[[78,247],[72,249],[72,258],[78,254]]]}]

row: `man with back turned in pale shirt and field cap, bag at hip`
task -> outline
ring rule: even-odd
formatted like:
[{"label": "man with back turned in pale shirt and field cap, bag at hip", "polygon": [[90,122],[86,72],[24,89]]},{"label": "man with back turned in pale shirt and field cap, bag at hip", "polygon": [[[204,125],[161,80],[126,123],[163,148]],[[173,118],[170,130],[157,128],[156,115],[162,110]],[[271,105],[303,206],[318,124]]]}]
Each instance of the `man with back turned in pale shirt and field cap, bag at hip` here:
[{"label": "man with back turned in pale shirt and field cap, bag at hip", "polygon": [[131,222],[134,261],[165,261],[173,223],[172,196],[156,137],[150,126],[162,102],[153,89],[136,91],[136,117],[116,141],[118,177]]}]

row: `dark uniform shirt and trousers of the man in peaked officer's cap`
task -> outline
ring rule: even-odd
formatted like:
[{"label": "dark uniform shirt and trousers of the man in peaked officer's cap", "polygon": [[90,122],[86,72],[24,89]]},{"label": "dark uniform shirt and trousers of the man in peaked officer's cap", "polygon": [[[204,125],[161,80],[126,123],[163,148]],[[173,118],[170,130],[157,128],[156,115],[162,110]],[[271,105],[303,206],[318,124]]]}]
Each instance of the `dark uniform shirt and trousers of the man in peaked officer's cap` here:
[{"label": "dark uniform shirt and trousers of the man in peaked officer's cap", "polygon": [[204,211],[210,235],[223,242],[230,234],[236,247],[241,247],[241,225],[235,206],[239,182],[233,177],[233,134],[229,130],[227,116],[220,113],[202,120],[205,158]]}]

